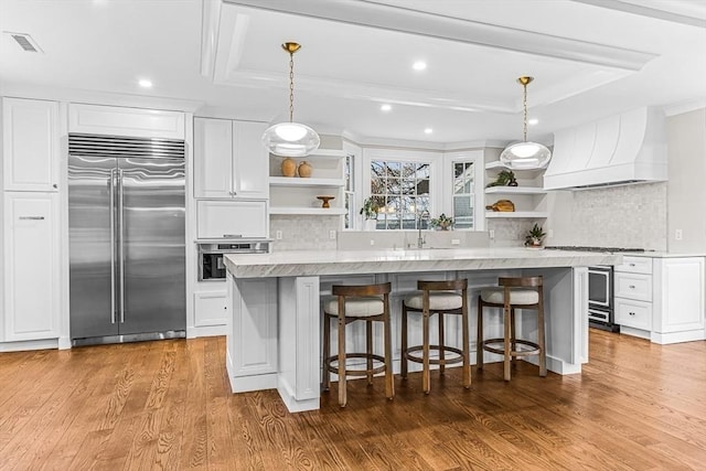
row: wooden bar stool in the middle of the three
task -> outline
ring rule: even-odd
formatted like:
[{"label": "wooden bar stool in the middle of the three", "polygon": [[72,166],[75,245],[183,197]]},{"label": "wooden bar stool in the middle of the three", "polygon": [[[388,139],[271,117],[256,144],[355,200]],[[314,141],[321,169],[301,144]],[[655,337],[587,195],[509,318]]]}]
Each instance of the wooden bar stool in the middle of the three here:
[{"label": "wooden bar stool in the middle of the three", "polygon": [[[421,386],[425,394],[429,394],[429,365],[439,365],[443,374],[446,365],[463,362],[463,386],[471,387],[471,365],[469,361],[469,328],[468,328],[468,280],[449,281],[417,281],[419,295],[407,297],[402,304],[402,377],[407,377],[407,362],[422,364]],[[458,292],[460,291],[460,293]],[[418,312],[422,315],[422,344],[407,346],[407,314]],[[437,313],[439,318],[439,344],[429,345],[429,318]],[[463,345],[461,349],[446,345],[443,339],[445,314],[461,315]],[[438,358],[431,358],[429,352],[439,352]],[[414,352],[421,351],[421,356]],[[456,355],[447,358],[446,353]]]}]

